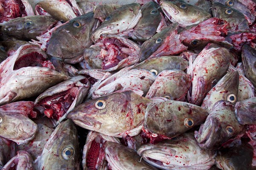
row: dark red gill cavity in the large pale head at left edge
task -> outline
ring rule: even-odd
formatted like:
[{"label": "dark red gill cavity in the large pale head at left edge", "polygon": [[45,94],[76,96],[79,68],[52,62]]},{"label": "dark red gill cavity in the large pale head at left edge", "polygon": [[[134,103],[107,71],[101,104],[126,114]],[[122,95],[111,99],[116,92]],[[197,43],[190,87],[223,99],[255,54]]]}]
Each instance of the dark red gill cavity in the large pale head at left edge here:
[{"label": "dark red gill cavity in the large pale head at left edge", "polygon": [[20,68],[29,67],[29,66],[48,67],[52,70],[55,70],[54,66],[52,65],[52,62],[47,61],[43,57],[43,55],[39,54],[38,52],[31,52],[17,59],[13,67],[13,70],[18,70]]}]

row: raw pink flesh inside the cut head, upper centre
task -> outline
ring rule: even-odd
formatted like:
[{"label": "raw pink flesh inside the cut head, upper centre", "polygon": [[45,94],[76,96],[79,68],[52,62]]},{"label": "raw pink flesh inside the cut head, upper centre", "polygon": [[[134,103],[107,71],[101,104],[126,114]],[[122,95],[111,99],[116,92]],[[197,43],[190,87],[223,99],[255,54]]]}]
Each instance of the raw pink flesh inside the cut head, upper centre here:
[{"label": "raw pink flesh inside the cut head, upper centre", "polygon": [[105,70],[118,65],[119,61],[129,56],[122,51],[122,48],[128,48],[128,46],[117,39],[106,38],[103,40],[103,44],[105,51],[107,51],[107,55],[102,53],[102,68]]}]

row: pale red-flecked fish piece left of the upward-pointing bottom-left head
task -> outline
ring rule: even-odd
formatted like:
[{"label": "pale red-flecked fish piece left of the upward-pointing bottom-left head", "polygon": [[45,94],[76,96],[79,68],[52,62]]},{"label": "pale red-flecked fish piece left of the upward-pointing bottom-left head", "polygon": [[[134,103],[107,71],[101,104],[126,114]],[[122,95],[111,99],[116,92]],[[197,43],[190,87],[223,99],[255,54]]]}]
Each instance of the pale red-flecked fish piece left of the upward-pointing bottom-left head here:
[{"label": "pale red-flecked fish piece left of the upward-pointing bottom-left head", "polygon": [[26,150],[31,153],[32,158],[35,160],[38,156],[41,156],[44,146],[50,138],[53,130],[44,124],[38,124],[38,131],[35,134],[35,138],[29,141],[27,144],[20,144],[17,146],[17,150]]}]

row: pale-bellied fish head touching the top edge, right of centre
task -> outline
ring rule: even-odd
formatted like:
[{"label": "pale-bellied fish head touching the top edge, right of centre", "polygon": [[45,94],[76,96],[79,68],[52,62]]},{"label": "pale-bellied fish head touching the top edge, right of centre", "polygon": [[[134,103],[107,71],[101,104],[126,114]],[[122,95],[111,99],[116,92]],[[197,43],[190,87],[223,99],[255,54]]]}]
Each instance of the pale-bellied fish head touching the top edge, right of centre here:
[{"label": "pale-bellied fish head touching the top edge, right of centre", "polygon": [[211,14],[184,2],[183,0],[160,0],[160,6],[166,17],[172,23],[179,23],[179,26],[186,27],[199,24],[211,17]]}]

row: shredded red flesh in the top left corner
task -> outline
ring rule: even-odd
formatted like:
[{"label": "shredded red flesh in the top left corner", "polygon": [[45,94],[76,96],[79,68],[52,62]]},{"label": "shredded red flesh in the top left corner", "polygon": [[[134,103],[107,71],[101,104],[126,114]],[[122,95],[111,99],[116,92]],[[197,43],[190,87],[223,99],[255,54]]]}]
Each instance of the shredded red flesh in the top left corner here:
[{"label": "shredded red flesh in the top left corner", "polygon": [[0,23],[7,22],[17,17],[25,17],[25,6],[21,0],[1,0]]}]

